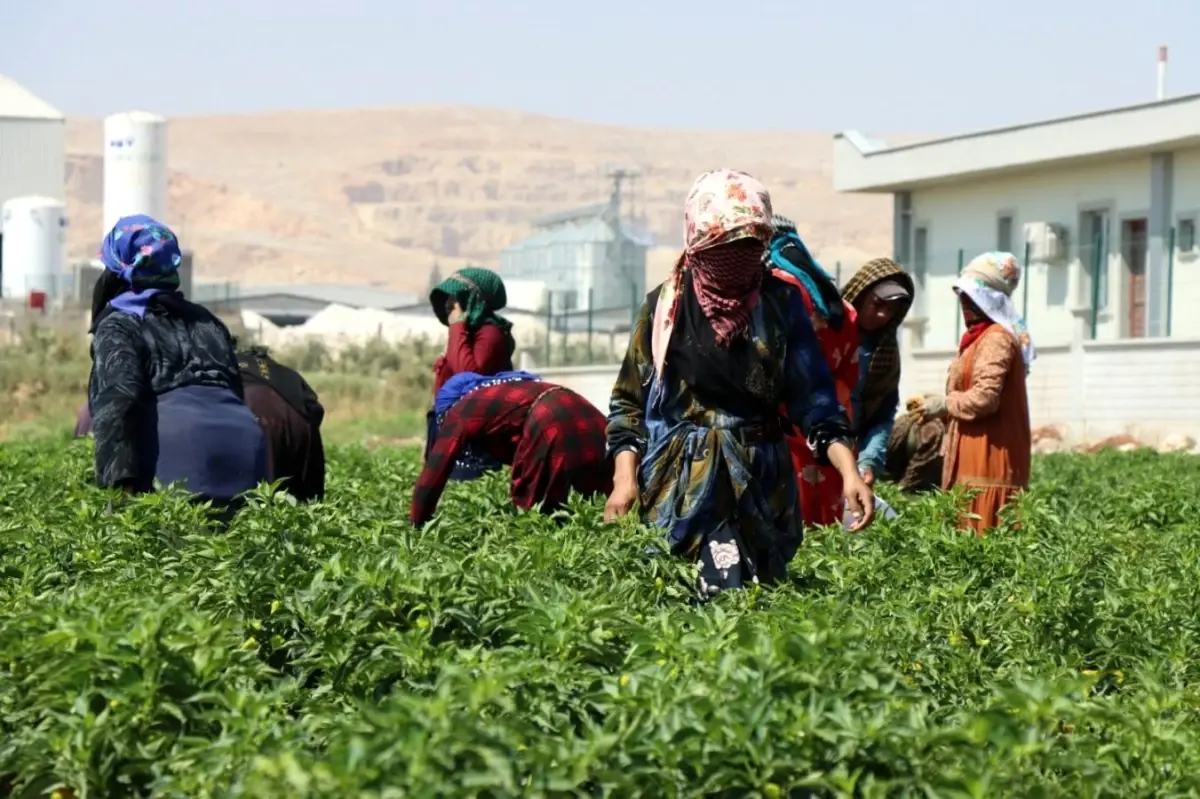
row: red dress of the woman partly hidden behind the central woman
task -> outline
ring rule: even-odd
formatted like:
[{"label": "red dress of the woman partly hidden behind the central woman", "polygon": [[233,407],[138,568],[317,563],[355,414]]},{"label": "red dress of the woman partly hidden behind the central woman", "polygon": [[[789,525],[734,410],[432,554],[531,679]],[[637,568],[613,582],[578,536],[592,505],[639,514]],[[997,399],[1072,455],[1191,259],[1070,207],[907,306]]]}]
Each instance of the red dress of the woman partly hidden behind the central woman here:
[{"label": "red dress of the woman partly hidden behind the central woman", "polygon": [[[841,330],[834,330],[817,312],[812,296],[800,281],[781,269],[774,269],[772,274],[794,286],[800,293],[817,344],[826,356],[829,372],[833,373],[838,402],[850,417],[850,398],[854,386],[858,385],[858,314],[854,312],[854,306],[842,302],[846,318]],[[817,465],[804,435],[788,435],[787,449],[792,455],[792,467],[796,469],[796,483],[800,492],[800,518],[804,519],[804,524],[808,527],[840,524],[844,501],[841,475],[833,467]]]}]

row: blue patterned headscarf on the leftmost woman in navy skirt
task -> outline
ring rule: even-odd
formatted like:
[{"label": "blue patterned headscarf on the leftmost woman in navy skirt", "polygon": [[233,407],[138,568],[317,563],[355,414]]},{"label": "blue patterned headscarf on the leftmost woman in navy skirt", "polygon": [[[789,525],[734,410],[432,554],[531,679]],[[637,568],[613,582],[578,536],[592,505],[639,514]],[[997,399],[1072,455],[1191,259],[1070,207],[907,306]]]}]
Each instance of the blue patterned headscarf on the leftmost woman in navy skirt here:
[{"label": "blue patterned headscarf on the leftmost woman in navy skirt", "polygon": [[110,304],[118,311],[143,317],[150,298],[179,288],[179,265],[184,260],[179,239],[166,224],[144,214],[116,221],[100,245],[100,259],[104,269],[130,286]]}]

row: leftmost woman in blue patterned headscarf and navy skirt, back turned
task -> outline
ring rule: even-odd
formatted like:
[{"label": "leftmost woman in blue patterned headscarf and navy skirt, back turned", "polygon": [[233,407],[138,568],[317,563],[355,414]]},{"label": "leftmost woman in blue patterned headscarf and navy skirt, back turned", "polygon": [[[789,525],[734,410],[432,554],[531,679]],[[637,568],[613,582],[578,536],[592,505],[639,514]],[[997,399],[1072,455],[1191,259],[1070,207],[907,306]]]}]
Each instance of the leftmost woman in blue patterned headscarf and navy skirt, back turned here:
[{"label": "leftmost woman in blue patterned headscarf and navy skirt, back turned", "polygon": [[88,382],[96,482],[128,493],[179,482],[232,500],[266,477],[266,446],[242,402],[233,338],[179,292],[179,241],[148,216],[101,245]]}]

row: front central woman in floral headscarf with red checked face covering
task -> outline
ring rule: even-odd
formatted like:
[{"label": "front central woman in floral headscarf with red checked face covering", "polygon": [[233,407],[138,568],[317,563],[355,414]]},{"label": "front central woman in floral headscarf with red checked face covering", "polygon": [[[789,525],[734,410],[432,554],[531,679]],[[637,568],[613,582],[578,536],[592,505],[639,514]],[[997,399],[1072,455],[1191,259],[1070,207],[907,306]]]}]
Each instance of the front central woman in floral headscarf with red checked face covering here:
[{"label": "front central woman in floral headscarf with red checked face covering", "polygon": [[786,577],[803,540],[792,423],[841,473],[859,528],[874,503],[804,302],[766,268],[767,190],[745,173],[706,173],[684,218],[685,250],[642,304],[613,386],[605,517],[640,501],[671,551],[700,561],[710,595]]}]

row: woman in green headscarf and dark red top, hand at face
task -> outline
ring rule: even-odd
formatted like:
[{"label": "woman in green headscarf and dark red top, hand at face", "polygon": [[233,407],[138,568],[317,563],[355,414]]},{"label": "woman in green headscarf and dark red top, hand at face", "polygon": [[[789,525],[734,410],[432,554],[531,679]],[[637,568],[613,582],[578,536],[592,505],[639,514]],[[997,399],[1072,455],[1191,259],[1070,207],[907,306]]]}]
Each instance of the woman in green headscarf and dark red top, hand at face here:
[{"label": "woman in green headscarf and dark red top, hand at face", "polygon": [[[496,374],[512,370],[512,323],[499,314],[508,305],[504,281],[490,269],[460,269],[430,292],[430,304],[449,328],[446,350],[433,362],[433,395],[456,374]],[[434,411],[426,415],[425,456],[436,432]],[[451,480],[474,480],[500,463],[468,447],[458,456]]]}]

